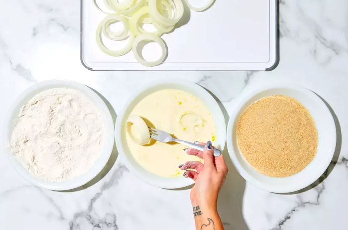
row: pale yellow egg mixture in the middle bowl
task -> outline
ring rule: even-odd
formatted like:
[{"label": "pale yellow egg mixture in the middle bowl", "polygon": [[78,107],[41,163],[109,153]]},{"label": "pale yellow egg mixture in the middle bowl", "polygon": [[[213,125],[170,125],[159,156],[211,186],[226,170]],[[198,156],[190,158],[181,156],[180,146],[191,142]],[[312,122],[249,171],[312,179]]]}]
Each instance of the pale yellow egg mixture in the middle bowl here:
[{"label": "pale yellow egg mixture in the middle bowl", "polygon": [[[190,142],[215,141],[215,124],[207,106],[194,95],[177,89],[164,89],[144,97],[130,115],[138,115],[149,127],[170,133],[174,138]],[[201,161],[187,155],[185,146],[150,140],[137,144],[127,132],[126,142],[134,159],[149,172],[162,177],[181,175],[178,168],[186,161]]]}]

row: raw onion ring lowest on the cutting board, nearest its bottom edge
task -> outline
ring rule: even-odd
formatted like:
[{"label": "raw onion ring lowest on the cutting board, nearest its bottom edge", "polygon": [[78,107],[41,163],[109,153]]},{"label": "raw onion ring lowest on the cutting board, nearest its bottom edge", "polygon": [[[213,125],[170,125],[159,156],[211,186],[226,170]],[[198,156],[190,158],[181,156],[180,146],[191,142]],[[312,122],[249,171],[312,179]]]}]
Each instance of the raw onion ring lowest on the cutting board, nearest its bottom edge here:
[{"label": "raw onion ring lowest on the cutting board, nearest its bottom edge", "polygon": [[[153,41],[153,42],[156,42],[157,44],[159,44],[161,49],[162,49],[161,57],[159,59],[157,59],[156,61],[146,61],[141,54],[142,50],[138,50],[138,45],[142,41]],[[142,64],[144,66],[148,66],[148,67],[157,66],[157,65],[161,64],[162,62],[164,62],[164,60],[167,57],[167,53],[168,53],[168,49],[167,49],[165,42],[159,36],[156,36],[154,34],[140,34],[139,36],[137,36],[134,39],[132,50],[133,50],[133,54],[134,54],[135,59],[140,64]]]}]

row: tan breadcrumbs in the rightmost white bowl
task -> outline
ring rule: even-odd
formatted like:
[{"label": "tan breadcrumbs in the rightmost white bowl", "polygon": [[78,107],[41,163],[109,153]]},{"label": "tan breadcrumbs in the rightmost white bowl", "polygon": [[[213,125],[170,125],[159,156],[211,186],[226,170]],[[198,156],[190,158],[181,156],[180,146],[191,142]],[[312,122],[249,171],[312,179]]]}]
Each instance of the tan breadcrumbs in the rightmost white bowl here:
[{"label": "tan breadcrumbs in the rightmost white bowl", "polygon": [[288,177],[301,172],[316,155],[318,131],[296,99],[273,95],[251,104],[237,127],[238,148],[259,173]]}]

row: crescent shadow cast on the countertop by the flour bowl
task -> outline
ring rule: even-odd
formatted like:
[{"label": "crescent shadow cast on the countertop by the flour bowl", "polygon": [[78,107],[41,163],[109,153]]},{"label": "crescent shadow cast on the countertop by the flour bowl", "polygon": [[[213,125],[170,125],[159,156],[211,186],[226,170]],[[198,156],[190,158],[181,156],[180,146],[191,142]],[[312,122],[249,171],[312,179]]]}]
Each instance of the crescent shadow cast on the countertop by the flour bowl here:
[{"label": "crescent shadow cast on the countertop by the flour bowl", "polygon": [[[100,94],[98,91],[94,90],[93,88],[90,88],[90,89],[92,89],[96,94],[98,94],[99,97],[105,102],[105,104],[106,104],[107,108],[109,109],[110,114],[112,116],[113,124],[115,125],[117,115],[116,115],[115,110],[111,106],[110,102],[102,94]],[[80,191],[80,190],[86,189],[86,188],[94,185],[95,183],[100,181],[110,171],[110,169],[112,168],[112,166],[116,162],[117,156],[118,156],[118,152],[117,152],[116,144],[114,143],[113,148],[112,148],[112,152],[111,152],[111,156],[110,156],[109,160],[107,161],[105,167],[101,170],[101,172],[98,175],[96,175],[87,184],[84,184],[84,185],[82,185],[78,188],[75,188],[75,189],[65,190],[65,191],[61,191],[61,192],[76,192],[76,191]]]}]

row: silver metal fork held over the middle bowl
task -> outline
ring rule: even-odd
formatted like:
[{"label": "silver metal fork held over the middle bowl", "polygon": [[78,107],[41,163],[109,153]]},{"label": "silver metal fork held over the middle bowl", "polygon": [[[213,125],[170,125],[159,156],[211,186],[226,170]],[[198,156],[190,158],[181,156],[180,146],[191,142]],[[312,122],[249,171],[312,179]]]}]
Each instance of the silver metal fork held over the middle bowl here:
[{"label": "silver metal fork held over the middle bowl", "polygon": [[[195,143],[184,141],[184,140],[178,140],[173,138],[168,132],[164,132],[151,127],[148,127],[148,128],[149,128],[151,139],[154,139],[163,143],[176,142],[176,143],[188,146],[190,148],[197,149],[199,151],[204,151],[204,146],[200,144],[195,144]],[[220,156],[220,155],[221,155],[221,151],[217,148],[214,148],[214,156]]]}]

